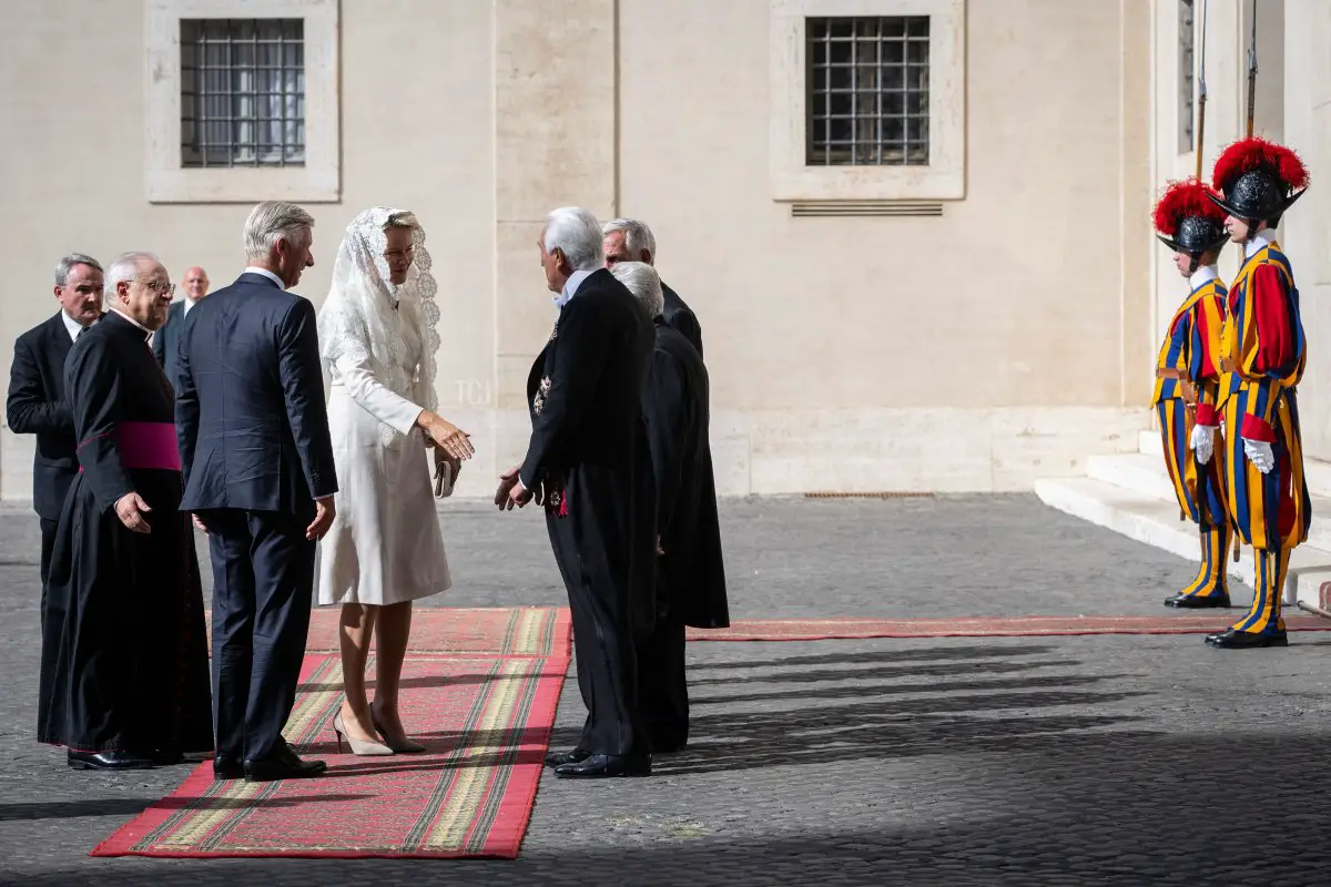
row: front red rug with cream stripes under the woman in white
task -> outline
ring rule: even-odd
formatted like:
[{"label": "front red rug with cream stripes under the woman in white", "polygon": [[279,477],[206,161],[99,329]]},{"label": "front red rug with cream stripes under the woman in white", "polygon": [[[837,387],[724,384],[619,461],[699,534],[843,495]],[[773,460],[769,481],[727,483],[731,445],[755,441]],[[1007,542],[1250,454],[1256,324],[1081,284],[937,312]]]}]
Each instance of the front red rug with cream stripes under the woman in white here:
[{"label": "front red rug with cream stripes under the woman in white", "polygon": [[[447,751],[394,758],[346,755],[342,774],[330,766],[329,777],[322,779],[257,785],[213,782],[212,763],[204,763],[172,795],[117,830],[91,855],[514,859],[531,817],[568,657],[486,658],[409,656],[407,668],[418,676],[430,673],[434,664],[451,664],[466,672],[467,685],[475,686],[461,722],[434,725],[437,731],[442,727],[458,734]],[[341,702],[341,678],[338,657],[306,657],[301,682],[311,689],[297,697],[285,730],[293,745],[309,749],[321,734],[327,739]],[[441,678],[434,692],[442,697],[465,690],[450,689],[449,680]],[[375,766],[382,766],[383,773],[373,771]],[[354,773],[363,767],[370,767],[373,775]],[[403,781],[414,787],[403,791]],[[351,815],[353,801],[347,798],[363,801],[363,793],[371,790],[371,797],[382,795],[383,803],[397,805],[395,815],[386,814],[382,824],[361,822],[359,836],[349,836],[338,827],[346,822],[338,807],[347,805]],[[414,802],[421,802],[418,810],[402,809]],[[303,831],[291,827],[295,821],[302,821]],[[274,834],[318,834],[319,840],[301,844],[299,838],[293,838],[290,846],[273,846],[272,840],[246,846],[246,828],[249,835],[262,834],[265,839]]]}]

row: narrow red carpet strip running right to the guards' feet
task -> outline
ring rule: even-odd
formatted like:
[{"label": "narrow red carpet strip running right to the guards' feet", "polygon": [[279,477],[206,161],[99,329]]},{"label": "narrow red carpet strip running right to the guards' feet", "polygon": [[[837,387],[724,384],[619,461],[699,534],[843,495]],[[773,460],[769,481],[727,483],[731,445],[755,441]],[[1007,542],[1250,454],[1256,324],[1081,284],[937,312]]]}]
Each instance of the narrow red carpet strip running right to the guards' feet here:
[{"label": "narrow red carpet strip running right to the guards' feet", "polygon": [[[724,629],[688,629],[689,641],[832,641],[874,637],[1040,637],[1058,634],[1210,634],[1246,610],[1210,616],[1018,616],[936,620],[740,620]],[[1331,632],[1316,616],[1286,616],[1291,632]]]}]

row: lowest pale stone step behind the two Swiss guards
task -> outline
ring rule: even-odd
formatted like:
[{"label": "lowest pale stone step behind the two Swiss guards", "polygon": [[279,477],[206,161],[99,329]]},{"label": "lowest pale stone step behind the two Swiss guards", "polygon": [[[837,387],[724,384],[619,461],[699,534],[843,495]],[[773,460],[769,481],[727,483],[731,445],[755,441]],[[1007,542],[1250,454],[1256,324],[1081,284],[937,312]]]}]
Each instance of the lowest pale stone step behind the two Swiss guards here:
[{"label": "lowest pale stone step behind the two Swiss guards", "polygon": [[[1037,480],[1036,495],[1050,508],[1193,563],[1198,560],[1197,528],[1178,519],[1178,504],[1173,499],[1163,500],[1090,477]],[[1331,508],[1331,501],[1324,504]],[[1290,556],[1290,572],[1284,582],[1287,604],[1303,600],[1323,606],[1323,601],[1331,598],[1331,551],[1310,543],[1300,545]],[[1226,569],[1231,580],[1239,580],[1251,588],[1252,551],[1244,548],[1236,564],[1233,557],[1226,557]]]}]

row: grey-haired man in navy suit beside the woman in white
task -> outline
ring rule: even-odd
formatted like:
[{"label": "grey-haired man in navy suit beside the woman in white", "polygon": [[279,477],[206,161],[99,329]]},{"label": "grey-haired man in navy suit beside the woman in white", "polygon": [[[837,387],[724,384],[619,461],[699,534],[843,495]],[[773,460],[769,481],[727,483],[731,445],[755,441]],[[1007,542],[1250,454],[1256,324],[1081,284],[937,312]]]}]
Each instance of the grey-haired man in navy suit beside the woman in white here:
[{"label": "grey-haired man in navy suit beside the woman in white", "polygon": [[213,561],[217,779],[325,770],[282,737],[337,492],[314,306],[286,291],[314,265],[313,226],[294,203],[256,206],[249,267],[190,310],[177,351],[180,507],[208,532]]}]

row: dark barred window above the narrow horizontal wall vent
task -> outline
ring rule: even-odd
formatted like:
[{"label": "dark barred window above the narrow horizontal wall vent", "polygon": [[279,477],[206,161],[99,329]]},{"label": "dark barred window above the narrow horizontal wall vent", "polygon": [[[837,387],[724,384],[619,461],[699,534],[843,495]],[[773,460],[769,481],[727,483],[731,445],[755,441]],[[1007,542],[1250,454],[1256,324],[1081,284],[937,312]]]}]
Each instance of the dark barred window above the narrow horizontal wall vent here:
[{"label": "dark barred window above the narrow horizontal wall vent", "polygon": [[929,16],[805,19],[805,165],[929,164]]}]

